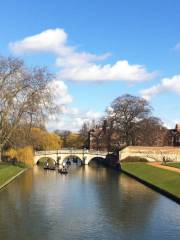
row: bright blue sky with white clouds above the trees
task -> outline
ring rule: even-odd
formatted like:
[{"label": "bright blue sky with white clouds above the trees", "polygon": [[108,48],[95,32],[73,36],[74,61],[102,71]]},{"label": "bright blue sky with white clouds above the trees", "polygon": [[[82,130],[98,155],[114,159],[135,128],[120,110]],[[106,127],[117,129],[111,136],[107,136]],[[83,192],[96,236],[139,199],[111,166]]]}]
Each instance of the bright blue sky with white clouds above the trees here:
[{"label": "bright blue sky with white clouds above the trees", "polygon": [[[55,86],[62,91],[57,98],[65,99],[65,109],[63,116],[51,119],[50,129],[77,130],[125,93],[146,97],[154,115],[172,127],[180,122],[179,12],[178,0],[6,0],[1,2],[0,53],[20,56],[30,66],[47,65],[57,73],[61,84]],[[31,39],[23,42],[43,32],[45,37],[37,41],[42,46],[52,38],[52,47],[32,48]],[[72,64],[73,57],[77,62]],[[123,60],[125,70],[117,64]],[[90,77],[83,78],[84,72]]]}]

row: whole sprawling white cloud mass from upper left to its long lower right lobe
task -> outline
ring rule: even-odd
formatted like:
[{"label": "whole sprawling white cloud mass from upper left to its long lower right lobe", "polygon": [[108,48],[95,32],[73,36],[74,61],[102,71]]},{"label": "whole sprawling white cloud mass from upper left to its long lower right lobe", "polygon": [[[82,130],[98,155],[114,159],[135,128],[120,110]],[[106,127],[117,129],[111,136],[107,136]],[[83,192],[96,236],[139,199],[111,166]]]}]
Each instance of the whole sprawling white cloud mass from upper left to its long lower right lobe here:
[{"label": "whole sprawling white cloud mass from upper left to its long lower right lobe", "polygon": [[98,64],[110,54],[96,55],[79,52],[76,47],[67,44],[67,33],[63,29],[48,29],[37,35],[10,43],[14,53],[52,52],[56,54],[59,77],[72,81],[144,81],[156,76],[142,65],[130,64],[127,60],[118,60],[114,64]]}]

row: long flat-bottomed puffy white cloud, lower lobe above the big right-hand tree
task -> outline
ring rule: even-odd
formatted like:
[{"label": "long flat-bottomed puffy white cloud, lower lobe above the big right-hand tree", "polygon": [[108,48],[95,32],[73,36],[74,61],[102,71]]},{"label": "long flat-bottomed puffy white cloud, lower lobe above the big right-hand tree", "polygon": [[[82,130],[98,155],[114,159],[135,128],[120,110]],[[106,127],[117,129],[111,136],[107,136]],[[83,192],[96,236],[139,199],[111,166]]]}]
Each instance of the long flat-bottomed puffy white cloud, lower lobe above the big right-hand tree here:
[{"label": "long flat-bottomed puffy white cloud, lower lobe above the big right-hand tree", "polygon": [[129,81],[137,82],[155,77],[141,65],[130,65],[128,61],[117,61],[115,64],[97,65],[89,63],[84,66],[66,67],[60,71],[62,79],[74,81]]}]

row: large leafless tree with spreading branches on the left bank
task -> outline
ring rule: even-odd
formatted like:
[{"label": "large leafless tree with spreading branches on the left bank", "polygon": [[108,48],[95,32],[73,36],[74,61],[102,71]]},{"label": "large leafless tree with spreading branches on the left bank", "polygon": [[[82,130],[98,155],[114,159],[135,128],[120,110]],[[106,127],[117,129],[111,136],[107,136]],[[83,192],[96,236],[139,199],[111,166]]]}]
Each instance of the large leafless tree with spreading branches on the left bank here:
[{"label": "large leafless tree with spreading branches on the left bank", "polygon": [[53,109],[52,77],[45,68],[28,69],[19,59],[0,57],[0,158],[18,126],[42,122]]}]

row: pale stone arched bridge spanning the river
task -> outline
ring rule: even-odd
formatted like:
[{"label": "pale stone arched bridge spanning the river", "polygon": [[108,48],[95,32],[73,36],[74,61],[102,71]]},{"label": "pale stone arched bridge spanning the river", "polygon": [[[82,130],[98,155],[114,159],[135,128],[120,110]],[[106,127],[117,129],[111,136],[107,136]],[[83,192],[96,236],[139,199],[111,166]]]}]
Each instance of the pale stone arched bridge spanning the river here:
[{"label": "pale stone arched bridge spanning the river", "polygon": [[36,151],[34,164],[44,157],[53,159],[56,163],[62,164],[68,158],[75,157],[82,161],[82,164],[89,164],[93,158],[105,159],[107,152],[87,150],[87,149],[60,149],[51,151]]}]

